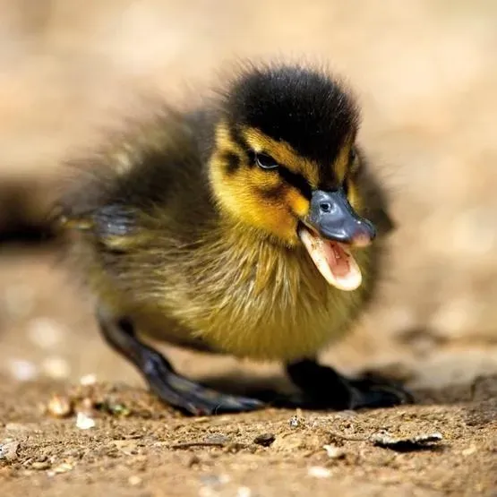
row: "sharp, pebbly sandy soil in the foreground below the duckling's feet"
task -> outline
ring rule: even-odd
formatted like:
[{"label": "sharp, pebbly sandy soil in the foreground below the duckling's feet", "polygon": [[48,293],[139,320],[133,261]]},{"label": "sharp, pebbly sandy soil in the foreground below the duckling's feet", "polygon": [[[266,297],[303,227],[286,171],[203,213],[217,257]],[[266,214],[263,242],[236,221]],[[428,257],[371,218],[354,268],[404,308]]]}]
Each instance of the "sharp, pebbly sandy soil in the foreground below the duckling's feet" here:
[{"label": "sharp, pebbly sandy soil in the foreground below the duckling's feet", "polygon": [[[67,395],[53,383],[2,381],[2,436],[16,450],[0,468],[5,494],[490,497],[497,488],[497,377],[435,392],[438,399],[425,406],[195,419],[175,416],[142,390],[80,387],[69,398],[130,411],[95,417],[88,430],[73,417],[40,414],[56,390]],[[398,437],[441,433],[443,440],[392,450],[374,443],[385,430]]]}]

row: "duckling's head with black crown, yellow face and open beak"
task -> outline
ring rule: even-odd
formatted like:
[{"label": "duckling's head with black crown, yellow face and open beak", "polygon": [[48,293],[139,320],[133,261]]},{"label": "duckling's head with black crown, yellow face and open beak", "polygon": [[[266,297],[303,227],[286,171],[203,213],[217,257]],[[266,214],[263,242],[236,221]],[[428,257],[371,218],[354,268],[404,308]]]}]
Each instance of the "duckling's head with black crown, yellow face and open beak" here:
[{"label": "duckling's head with black crown, yellow face and open beak", "polygon": [[251,67],[228,87],[210,157],[219,209],[275,243],[304,244],[328,282],[361,284],[350,246],[373,241],[356,182],[355,100],[328,74]]}]

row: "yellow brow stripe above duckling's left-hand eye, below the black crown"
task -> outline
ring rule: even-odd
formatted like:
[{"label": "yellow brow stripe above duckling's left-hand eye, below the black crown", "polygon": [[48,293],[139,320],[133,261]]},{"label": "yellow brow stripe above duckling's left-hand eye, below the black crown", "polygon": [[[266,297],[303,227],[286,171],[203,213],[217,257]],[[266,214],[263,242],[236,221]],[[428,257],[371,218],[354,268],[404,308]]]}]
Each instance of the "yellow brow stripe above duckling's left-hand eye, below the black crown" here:
[{"label": "yellow brow stripe above duckling's left-hand eye, below the black crown", "polygon": [[244,139],[256,152],[264,152],[278,164],[304,176],[314,187],[319,183],[318,167],[310,160],[303,159],[286,141],[276,141],[253,128],[243,130]]}]

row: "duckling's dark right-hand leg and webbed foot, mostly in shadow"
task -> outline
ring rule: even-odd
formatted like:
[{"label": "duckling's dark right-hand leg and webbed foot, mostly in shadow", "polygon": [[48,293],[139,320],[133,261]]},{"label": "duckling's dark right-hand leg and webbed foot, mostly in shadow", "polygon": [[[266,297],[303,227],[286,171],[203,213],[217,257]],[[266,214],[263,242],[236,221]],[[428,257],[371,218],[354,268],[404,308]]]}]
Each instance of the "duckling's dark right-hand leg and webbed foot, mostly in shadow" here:
[{"label": "duckling's dark right-hand leg and webbed foot, mostly in shadow", "polygon": [[303,391],[302,407],[342,410],[391,407],[414,401],[413,396],[397,384],[368,376],[347,378],[313,359],[287,364],[287,373]]}]

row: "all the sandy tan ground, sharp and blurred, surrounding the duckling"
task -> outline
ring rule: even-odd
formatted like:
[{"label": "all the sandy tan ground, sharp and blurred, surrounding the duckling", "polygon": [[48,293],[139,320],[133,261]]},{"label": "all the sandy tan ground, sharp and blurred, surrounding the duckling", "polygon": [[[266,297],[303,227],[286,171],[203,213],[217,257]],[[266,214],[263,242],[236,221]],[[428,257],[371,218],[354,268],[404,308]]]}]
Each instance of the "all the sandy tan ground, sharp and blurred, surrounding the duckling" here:
[{"label": "all the sandy tan ground, sharp and blurred, surrounding the duckling", "polygon": [[[81,5],[0,0],[1,493],[497,497],[497,4]],[[275,54],[347,76],[398,222],[377,301],[322,361],[407,381],[414,406],[180,416],[99,338],[54,245],[30,243],[62,159],[136,92],[176,101]],[[277,364],[163,350],[218,388],[290,388]]]}]

